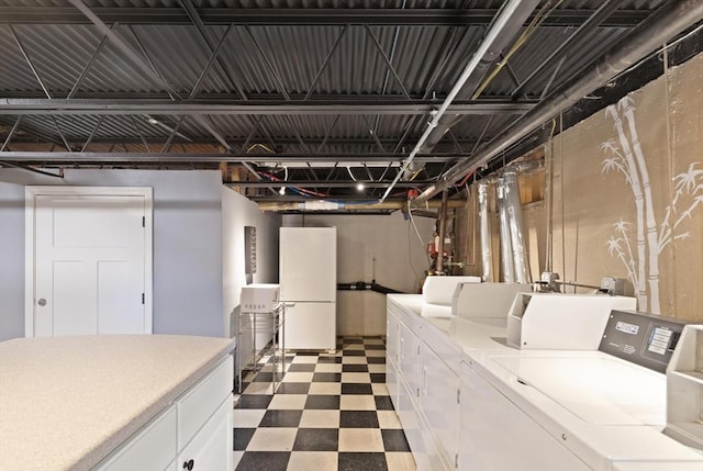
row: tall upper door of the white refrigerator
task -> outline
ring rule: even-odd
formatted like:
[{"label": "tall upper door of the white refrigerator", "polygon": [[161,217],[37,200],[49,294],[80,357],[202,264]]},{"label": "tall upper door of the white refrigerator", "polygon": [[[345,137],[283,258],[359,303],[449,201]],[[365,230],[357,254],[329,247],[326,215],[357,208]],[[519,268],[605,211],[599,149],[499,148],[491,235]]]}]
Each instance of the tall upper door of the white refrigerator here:
[{"label": "tall upper door of the white refrigerator", "polygon": [[335,302],[337,229],[281,227],[281,301]]}]

